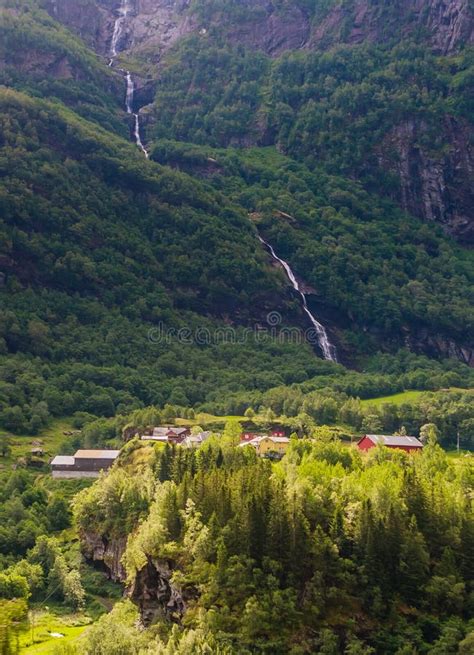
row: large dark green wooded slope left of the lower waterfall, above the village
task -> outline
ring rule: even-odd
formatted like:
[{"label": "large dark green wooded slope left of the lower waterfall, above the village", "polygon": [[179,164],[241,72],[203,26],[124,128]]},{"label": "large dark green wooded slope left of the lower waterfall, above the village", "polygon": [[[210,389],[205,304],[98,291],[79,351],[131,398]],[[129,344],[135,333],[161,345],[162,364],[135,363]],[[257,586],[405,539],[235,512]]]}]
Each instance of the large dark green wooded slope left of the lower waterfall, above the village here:
[{"label": "large dark green wooded slope left of the lower waterfall, above the village", "polygon": [[[59,105],[11,91],[2,102],[3,165],[16,173],[2,178],[11,264],[0,295],[1,424],[35,433],[50,415],[110,416],[178,392],[180,404],[194,404],[217,387],[268,387],[278,369],[292,381],[290,361],[315,369],[309,349],[275,349],[270,339],[200,348],[155,339],[182,327],[212,334],[219,319],[199,313],[238,310],[249,320],[256,299],[279,286],[245,216],[189,177],[144,168],[132,146]],[[20,135],[29,145],[12,149]],[[31,185],[41,198],[25,196]]]}]

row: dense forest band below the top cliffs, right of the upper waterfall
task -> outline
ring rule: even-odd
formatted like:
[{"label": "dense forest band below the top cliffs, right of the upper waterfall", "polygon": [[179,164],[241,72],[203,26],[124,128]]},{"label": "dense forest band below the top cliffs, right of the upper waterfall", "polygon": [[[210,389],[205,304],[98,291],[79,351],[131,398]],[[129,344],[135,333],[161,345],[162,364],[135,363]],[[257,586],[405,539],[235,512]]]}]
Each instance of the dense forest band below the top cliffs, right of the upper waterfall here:
[{"label": "dense forest band below the top cliffs, right of the upper waterfall", "polygon": [[374,179],[375,147],[409,118],[425,124],[430,150],[445,148],[440,121],[472,119],[473,69],[471,49],[443,58],[409,40],[272,61],[191,37],[160,78],[155,134],[211,146],[276,143],[311,168],[357,172],[369,188],[390,191],[393,177],[378,170]]}]

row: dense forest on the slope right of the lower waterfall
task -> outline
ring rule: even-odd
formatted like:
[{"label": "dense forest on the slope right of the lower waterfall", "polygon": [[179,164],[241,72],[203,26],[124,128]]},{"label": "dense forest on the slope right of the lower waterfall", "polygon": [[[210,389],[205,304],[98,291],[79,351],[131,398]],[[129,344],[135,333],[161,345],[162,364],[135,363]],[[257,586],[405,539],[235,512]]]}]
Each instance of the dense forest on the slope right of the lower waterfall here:
[{"label": "dense forest on the slope right of the lower waterfall", "polygon": [[441,230],[271,148],[229,152],[162,141],[152,156],[198,172],[212,157],[213,185],[246,207],[279,255],[315,288],[319,310],[324,298],[323,311],[346,323],[350,316],[342,337],[348,349],[373,352],[381,334],[401,345],[405,328],[468,342],[472,258]]}]

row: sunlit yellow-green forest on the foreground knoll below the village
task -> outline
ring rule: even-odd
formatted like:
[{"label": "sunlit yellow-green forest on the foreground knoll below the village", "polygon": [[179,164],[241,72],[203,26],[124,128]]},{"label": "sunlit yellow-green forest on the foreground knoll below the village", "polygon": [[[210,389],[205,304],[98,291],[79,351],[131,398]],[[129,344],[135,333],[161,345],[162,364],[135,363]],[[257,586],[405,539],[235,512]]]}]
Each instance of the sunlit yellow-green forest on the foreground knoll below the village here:
[{"label": "sunlit yellow-green forest on the foreground knoll below the village", "polygon": [[76,520],[84,533],[130,535],[124,563],[130,582],[142,576],[144,607],[154,567],[172,564],[184,629],[140,634],[136,610],[120,606],[86,652],[117,652],[106,646],[116,620],[130,653],[469,652],[472,480],[435,444],[361,461],[295,441],[272,468],[214,442],[158,450],[151,469],[156,488],[117,470],[79,494]]}]

